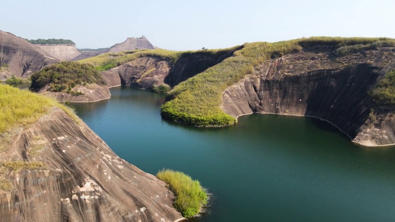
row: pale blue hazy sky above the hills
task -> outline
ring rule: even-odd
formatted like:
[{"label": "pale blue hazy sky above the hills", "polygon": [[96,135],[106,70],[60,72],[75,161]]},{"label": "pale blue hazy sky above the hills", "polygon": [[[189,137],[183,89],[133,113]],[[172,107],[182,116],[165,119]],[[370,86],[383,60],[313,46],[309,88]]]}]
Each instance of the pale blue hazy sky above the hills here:
[{"label": "pale blue hazy sky above the hills", "polygon": [[160,48],[224,48],[310,36],[395,38],[393,0],[4,0],[0,30],[102,48],[145,35]]}]

